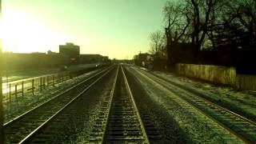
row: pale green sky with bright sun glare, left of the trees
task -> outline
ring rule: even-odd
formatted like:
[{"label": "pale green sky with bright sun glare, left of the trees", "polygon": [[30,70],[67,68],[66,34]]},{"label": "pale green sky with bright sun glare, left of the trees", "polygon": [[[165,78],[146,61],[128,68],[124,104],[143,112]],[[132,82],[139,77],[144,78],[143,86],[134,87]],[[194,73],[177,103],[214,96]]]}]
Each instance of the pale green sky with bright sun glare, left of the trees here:
[{"label": "pale green sky with bright sun glare, left of the trees", "polygon": [[73,42],[81,54],[133,58],[163,28],[166,0],[2,0],[3,51],[58,52]]}]

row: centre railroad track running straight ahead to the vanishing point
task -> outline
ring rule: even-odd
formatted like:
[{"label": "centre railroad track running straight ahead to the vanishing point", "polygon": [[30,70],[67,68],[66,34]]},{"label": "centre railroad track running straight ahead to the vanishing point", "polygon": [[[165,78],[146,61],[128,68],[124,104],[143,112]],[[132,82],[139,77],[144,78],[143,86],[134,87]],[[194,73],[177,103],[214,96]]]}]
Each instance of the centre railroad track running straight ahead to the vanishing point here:
[{"label": "centre railroad track running straight ahead to the vanishing point", "polygon": [[102,101],[89,142],[149,143],[122,66],[118,68],[110,96]]}]

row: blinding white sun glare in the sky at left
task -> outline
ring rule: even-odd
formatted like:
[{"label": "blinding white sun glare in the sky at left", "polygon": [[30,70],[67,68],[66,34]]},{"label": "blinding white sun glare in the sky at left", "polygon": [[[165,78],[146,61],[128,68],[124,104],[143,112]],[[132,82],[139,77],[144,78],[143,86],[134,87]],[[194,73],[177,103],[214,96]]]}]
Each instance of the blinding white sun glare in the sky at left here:
[{"label": "blinding white sun glare in the sky at left", "polygon": [[30,14],[18,10],[3,10],[1,22],[1,38],[3,51],[18,53],[46,52],[53,47],[68,41]]}]

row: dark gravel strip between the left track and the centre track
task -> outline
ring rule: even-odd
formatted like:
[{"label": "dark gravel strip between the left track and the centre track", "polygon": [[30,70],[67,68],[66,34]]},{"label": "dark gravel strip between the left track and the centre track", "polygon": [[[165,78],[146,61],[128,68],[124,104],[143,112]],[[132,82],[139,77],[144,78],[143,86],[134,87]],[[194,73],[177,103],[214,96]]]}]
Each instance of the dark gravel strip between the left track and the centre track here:
[{"label": "dark gravel strip between the left track and the centre track", "polygon": [[[77,101],[59,114],[42,134],[49,134],[45,143],[90,143],[89,137],[96,125],[102,101],[110,95],[114,77],[104,77]],[[111,80],[108,80],[111,79]],[[40,134],[37,138],[40,138]]]}]

